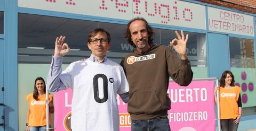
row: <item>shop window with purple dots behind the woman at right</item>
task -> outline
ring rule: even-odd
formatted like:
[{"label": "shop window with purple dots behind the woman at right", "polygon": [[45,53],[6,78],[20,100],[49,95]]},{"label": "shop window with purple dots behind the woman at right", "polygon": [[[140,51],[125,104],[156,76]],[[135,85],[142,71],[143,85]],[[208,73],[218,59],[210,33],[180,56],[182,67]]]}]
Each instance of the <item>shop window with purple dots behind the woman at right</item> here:
[{"label": "shop window with purple dots behind the woman at right", "polygon": [[256,106],[255,99],[255,58],[254,41],[242,38],[229,38],[230,70],[235,77],[235,85],[241,87],[243,107]]}]

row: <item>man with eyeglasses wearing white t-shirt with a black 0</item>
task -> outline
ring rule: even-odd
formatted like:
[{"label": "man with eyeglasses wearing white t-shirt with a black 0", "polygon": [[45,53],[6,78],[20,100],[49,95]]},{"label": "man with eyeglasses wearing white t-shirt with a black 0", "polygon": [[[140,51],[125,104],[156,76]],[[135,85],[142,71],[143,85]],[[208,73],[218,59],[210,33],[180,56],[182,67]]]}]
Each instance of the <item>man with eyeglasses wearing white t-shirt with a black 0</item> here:
[{"label": "man with eyeglasses wearing white t-shirt with a black 0", "polygon": [[61,73],[63,56],[70,50],[65,39],[61,36],[55,41],[47,87],[52,92],[73,90],[72,130],[119,130],[116,95],[127,103],[129,85],[122,66],[106,57],[110,34],[104,29],[92,30],[87,38],[90,58],[71,63]]}]

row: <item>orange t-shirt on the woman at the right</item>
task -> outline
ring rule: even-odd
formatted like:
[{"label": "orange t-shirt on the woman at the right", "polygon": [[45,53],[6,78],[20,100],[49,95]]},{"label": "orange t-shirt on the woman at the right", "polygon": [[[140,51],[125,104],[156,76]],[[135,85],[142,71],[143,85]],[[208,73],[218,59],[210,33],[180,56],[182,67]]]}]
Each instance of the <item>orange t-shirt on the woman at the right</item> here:
[{"label": "orange t-shirt on the woman at the right", "polygon": [[220,119],[236,119],[239,114],[238,98],[241,88],[236,86],[233,89],[220,87]]}]

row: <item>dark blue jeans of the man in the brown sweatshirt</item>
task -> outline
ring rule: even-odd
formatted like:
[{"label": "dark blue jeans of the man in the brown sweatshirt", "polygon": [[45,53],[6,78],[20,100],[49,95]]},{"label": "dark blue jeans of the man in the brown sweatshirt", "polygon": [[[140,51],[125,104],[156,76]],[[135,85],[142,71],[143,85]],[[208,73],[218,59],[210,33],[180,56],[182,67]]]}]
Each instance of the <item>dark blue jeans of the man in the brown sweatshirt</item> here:
[{"label": "dark blue jeans of the man in the brown sweatshirt", "polygon": [[158,117],[150,120],[132,120],[132,131],[171,131],[169,119]]}]

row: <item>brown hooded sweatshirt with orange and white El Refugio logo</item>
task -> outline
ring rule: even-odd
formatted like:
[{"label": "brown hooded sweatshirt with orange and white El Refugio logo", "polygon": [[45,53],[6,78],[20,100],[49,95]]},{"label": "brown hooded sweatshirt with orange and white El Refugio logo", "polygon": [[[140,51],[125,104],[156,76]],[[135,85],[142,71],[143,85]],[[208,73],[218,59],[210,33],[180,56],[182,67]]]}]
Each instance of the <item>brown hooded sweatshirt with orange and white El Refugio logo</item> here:
[{"label": "brown hooded sweatshirt with orange and white El Refugio logo", "polygon": [[171,109],[167,96],[169,76],[182,86],[187,86],[193,78],[189,60],[179,59],[162,45],[153,45],[145,53],[134,50],[121,65],[130,87],[128,112],[132,120],[167,116],[167,110]]}]

